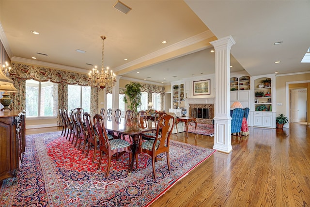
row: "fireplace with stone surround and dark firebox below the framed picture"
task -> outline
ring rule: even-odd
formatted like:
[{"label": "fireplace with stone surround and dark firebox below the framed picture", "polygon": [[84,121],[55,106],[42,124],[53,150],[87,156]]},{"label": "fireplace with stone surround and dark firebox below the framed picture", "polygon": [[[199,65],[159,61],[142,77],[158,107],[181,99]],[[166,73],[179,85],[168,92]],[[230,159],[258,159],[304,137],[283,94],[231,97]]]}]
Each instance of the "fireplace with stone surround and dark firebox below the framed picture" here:
[{"label": "fireplace with stone surround and dark firebox below the framed picture", "polygon": [[189,104],[189,116],[197,118],[197,123],[212,124],[214,104]]}]

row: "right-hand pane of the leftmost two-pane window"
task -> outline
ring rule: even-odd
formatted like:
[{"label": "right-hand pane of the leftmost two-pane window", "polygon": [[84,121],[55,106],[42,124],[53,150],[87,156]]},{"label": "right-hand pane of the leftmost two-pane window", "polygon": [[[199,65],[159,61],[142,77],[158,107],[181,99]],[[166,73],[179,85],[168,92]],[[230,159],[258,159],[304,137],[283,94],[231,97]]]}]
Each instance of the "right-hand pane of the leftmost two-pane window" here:
[{"label": "right-hand pane of the leftmost two-pane window", "polygon": [[57,116],[58,85],[41,82],[40,116]]}]

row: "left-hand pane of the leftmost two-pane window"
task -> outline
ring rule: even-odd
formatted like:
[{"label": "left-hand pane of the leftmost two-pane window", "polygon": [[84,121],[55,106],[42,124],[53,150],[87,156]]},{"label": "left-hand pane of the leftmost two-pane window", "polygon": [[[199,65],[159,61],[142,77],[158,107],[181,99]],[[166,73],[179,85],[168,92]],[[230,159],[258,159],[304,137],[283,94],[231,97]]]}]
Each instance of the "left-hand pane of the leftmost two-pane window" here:
[{"label": "left-hand pane of the leftmost two-pane window", "polygon": [[39,115],[39,82],[26,80],[26,116]]}]

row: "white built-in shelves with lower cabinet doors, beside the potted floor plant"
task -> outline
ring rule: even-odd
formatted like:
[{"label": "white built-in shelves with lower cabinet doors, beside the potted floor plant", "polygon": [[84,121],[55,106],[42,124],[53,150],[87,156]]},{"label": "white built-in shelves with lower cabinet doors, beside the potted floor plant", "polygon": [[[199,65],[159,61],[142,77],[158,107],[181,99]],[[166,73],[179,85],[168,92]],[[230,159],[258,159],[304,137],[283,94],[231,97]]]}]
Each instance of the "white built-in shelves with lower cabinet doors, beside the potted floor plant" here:
[{"label": "white built-in shelves with lower cabinet doors, beside the potted floor plant", "polygon": [[251,103],[254,111],[253,126],[276,128],[276,79],[275,75],[252,77]]}]

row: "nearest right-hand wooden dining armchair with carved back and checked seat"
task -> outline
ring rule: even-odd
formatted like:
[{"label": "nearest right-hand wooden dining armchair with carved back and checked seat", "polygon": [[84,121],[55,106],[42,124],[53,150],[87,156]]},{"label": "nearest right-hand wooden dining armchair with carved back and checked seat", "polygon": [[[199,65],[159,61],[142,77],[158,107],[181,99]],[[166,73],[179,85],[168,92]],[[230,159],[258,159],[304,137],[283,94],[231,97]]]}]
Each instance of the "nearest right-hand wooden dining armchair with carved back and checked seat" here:
[{"label": "nearest right-hand wooden dining armchair with carved back and checked seat", "polygon": [[[172,124],[171,124],[172,119]],[[167,165],[168,170],[170,171],[170,160],[169,160],[169,144],[170,144],[170,136],[172,132],[172,127],[174,125],[174,117],[171,115],[165,115],[160,117],[158,120],[158,124],[156,127],[156,134],[153,136],[151,140],[142,141],[140,137],[139,140],[139,153],[147,153],[149,156],[152,157],[152,166],[153,166],[153,174],[154,179],[157,179],[156,172],[155,172],[155,161],[157,161],[157,155],[161,153],[166,153],[167,157]],[[159,131],[161,130],[161,134]],[[149,136],[151,138],[151,136]],[[136,160],[138,160],[138,153],[136,153]],[[138,164],[137,164],[138,168]]]}]

